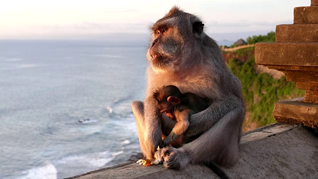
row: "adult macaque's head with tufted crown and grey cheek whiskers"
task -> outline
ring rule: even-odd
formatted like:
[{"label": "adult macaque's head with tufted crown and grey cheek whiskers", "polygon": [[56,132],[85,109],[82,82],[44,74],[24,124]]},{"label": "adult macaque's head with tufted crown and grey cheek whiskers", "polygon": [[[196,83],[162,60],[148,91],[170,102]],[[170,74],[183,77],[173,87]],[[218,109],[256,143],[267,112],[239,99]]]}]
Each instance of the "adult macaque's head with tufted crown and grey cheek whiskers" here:
[{"label": "adult macaque's head with tufted crown and grey cheek whiskers", "polygon": [[198,17],[172,8],[152,27],[152,40],[147,58],[156,71],[178,71],[197,65],[203,25]]}]

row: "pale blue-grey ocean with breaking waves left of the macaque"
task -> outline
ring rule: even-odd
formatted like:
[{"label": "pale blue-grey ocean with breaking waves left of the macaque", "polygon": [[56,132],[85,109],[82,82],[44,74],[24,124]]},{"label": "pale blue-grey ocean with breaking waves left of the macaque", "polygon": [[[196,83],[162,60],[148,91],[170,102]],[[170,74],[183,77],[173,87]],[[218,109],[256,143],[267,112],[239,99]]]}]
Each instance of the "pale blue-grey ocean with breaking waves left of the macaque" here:
[{"label": "pale blue-grey ocean with breaking waves left of the macaque", "polygon": [[140,152],[143,45],[0,41],[0,179],[62,179]]}]

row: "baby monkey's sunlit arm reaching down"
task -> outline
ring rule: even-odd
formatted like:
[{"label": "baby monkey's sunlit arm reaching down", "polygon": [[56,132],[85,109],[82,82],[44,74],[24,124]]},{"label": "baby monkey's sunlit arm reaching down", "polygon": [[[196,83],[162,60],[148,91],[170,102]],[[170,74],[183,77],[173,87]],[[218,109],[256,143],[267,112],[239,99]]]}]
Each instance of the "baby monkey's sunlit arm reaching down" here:
[{"label": "baby monkey's sunlit arm reaching down", "polygon": [[185,132],[189,126],[190,115],[191,111],[189,109],[183,111],[175,110],[176,123],[170,134],[163,139],[163,147],[168,146],[171,142],[178,139]]}]

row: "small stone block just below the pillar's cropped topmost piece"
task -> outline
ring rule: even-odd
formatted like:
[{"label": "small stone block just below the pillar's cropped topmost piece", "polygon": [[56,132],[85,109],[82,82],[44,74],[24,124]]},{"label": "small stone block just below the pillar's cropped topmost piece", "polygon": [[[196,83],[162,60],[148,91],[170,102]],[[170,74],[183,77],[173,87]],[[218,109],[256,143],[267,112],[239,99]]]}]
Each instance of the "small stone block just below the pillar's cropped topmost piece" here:
[{"label": "small stone block just below the pillar's cropped topmost piece", "polygon": [[318,6],[295,7],[294,24],[318,24]]}]

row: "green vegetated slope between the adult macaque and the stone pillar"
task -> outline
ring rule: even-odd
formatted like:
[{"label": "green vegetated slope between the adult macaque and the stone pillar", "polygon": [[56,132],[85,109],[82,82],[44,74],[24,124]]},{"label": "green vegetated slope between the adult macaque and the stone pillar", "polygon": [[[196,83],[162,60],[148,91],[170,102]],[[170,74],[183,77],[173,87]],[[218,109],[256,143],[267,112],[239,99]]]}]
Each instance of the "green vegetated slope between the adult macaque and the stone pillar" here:
[{"label": "green vegetated slope between the adult macaque and the stone pillar", "polygon": [[238,55],[238,59],[240,56],[250,57],[245,63],[234,58],[228,63],[229,69],[242,83],[248,114],[245,130],[248,129],[246,122],[256,123],[255,127],[274,123],[272,113],[275,102],[304,95],[304,90],[296,89],[294,82],[287,82],[285,77],[276,80],[267,73],[257,74],[254,69],[254,47],[239,49],[233,53]]}]

